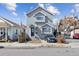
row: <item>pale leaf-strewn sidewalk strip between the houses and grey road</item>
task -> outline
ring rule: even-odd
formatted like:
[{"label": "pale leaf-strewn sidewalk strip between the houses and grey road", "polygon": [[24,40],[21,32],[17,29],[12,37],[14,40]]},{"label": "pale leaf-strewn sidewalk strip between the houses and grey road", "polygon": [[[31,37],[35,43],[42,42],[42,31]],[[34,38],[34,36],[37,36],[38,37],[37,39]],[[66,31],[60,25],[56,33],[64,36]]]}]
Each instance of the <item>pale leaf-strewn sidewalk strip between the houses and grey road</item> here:
[{"label": "pale leaf-strewn sidewalk strip between the houses and grey road", "polygon": [[58,44],[58,43],[47,43],[44,40],[41,40],[40,43],[35,42],[27,42],[27,43],[0,43],[0,48],[40,48],[40,47],[48,47],[48,48],[79,48],[79,43],[69,43],[69,44]]}]

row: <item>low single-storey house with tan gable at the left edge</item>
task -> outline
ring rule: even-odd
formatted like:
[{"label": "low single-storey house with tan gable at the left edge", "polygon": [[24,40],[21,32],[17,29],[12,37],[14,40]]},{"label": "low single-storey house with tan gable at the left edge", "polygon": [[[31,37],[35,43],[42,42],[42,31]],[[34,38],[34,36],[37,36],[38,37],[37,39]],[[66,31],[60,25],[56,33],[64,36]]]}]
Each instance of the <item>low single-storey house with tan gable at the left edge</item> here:
[{"label": "low single-storey house with tan gable at the left edge", "polygon": [[15,36],[14,34],[19,35],[20,29],[21,29],[20,25],[10,20],[7,20],[3,17],[0,17],[0,41],[1,40],[7,41],[8,39],[14,40],[13,37]]}]

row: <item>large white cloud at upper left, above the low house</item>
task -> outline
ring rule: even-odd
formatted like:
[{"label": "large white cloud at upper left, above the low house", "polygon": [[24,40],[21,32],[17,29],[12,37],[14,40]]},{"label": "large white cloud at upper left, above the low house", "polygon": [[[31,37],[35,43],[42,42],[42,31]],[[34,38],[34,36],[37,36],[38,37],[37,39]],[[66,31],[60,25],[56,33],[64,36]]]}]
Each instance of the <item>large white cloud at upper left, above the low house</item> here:
[{"label": "large white cloud at upper left, above the low house", "polygon": [[5,3],[4,5],[5,5],[6,9],[11,11],[11,13],[14,16],[17,16],[17,13],[16,13],[17,4],[16,3]]}]

